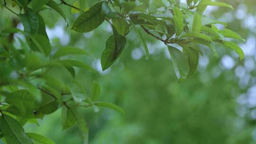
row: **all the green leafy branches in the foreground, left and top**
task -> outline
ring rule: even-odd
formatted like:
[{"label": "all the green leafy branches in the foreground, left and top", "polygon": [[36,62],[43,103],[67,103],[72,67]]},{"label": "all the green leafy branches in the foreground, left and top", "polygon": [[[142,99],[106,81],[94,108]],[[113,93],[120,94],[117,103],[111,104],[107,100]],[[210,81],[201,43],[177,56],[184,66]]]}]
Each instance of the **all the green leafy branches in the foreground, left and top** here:
[{"label": "all the green leafy branches in the foreground, left and top", "polygon": [[[79,108],[92,107],[97,112],[98,107],[106,107],[124,113],[114,104],[97,101],[101,93],[101,86],[97,82],[92,84],[89,97],[84,87],[74,80],[74,67],[96,74],[97,71],[90,64],[64,57],[69,54],[90,55],[85,50],[73,46],[52,50],[44,18],[40,15],[45,7],[59,13],[66,24],[68,19],[60,7],[61,4],[70,7],[72,13],[80,13],[70,28],[78,33],[91,32],[104,21],[110,24],[113,35],[106,40],[106,47],[101,54],[103,71],[120,57],[127,43],[126,36],[132,29],[143,44],[146,59],[150,55],[147,42],[143,38],[145,35],[152,36],[166,45],[179,81],[191,77],[196,72],[199,55],[202,54],[200,45],[206,45],[217,55],[214,44],[219,43],[235,51],[240,60],[244,58],[241,48],[227,38],[241,41],[244,39],[227,28],[219,29],[215,26],[222,24],[226,27],[226,23],[203,15],[207,6],[233,9],[222,2],[187,0],[187,3],[183,4],[180,0],[151,0],[145,8],[147,5],[139,0],[103,0],[83,11],[86,7],[82,3],[83,0],[76,1],[73,5],[65,0],[60,0],[61,4],[54,0],[14,0],[13,5],[22,9],[19,13],[7,7],[9,2],[10,0],[4,0],[3,9],[8,9],[18,16],[24,30],[9,27],[0,32],[0,47],[3,47],[0,51],[0,72],[5,72],[0,75],[0,98],[4,99],[0,102],[0,138],[7,144],[33,144],[39,137],[47,144],[54,144],[42,135],[25,133],[22,125],[32,120],[37,121],[38,118],[52,114],[59,108],[62,108],[63,129],[77,124],[82,132],[84,144],[88,143],[89,129]],[[141,33],[141,29],[145,33]],[[25,36],[25,42],[18,40],[27,43],[30,50],[17,48],[7,42],[8,36],[14,33]],[[9,70],[2,71],[6,68]],[[58,79],[54,76],[56,73],[51,71],[54,68],[58,68],[59,73],[68,72],[72,80],[66,82]],[[17,74],[17,78],[13,78],[11,72]],[[79,91],[73,89],[73,85]],[[84,99],[77,99],[76,93],[82,93]],[[26,123],[21,125],[17,117],[26,118]]]}]

